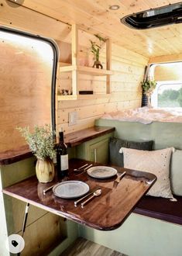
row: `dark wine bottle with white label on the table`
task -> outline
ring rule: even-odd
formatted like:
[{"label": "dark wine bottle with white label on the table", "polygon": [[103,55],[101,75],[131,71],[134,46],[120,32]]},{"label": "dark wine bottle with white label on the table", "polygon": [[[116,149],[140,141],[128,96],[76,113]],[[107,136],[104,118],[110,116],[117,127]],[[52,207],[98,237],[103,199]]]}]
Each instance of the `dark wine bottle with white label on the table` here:
[{"label": "dark wine bottle with white label on the table", "polygon": [[57,146],[57,175],[60,178],[68,175],[67,145],[64,143],[63,130],[59,133],[60,142]]}]

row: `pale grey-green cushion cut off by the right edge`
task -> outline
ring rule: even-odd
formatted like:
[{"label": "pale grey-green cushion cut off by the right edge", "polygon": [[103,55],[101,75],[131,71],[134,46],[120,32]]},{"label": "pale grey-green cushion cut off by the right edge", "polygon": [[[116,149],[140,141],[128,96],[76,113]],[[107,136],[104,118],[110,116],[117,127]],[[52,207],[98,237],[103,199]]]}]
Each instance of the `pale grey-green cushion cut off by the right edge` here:
[{"label": "pale grey-green cushion cut off by the right edge", "polygon": [[175,150],[171,156],[170,185],[174,195],[182,195],[182,150]]}]

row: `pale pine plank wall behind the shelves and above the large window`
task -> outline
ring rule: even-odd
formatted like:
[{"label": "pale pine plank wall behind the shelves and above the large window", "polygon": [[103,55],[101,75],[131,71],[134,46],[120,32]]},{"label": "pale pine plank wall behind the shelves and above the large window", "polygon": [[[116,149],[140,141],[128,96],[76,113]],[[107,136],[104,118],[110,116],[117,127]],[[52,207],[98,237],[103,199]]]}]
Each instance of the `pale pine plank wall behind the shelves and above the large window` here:
[{"label": "pale pine plank wall behind the shelves and above the large window", "polygon": [[[31,19],[22,19],[25,16],[31,16]],[[70,26],[22,6],[13,9],[7,5],[5,0],[2,0],[2,5],[0,6],[0,22],[6,26],[10,25],[17,29],[57,40],[57,42],[60,42],[60,61],[65,58],[63,56],[64,52],[65,54],[69,53],[68,58],[70,58],[69,46],[67,49],[65,44],[70,43]],[[92,59],[88,55],[88,51],[83,50],[85,47],[88,49],[90,38],[91,35],[88,33],[82,32],[79,35],[79,40],[81,41],[79,48],[81,54],[80,64],[85,64],[85,60],[86,64],[91,64]],[[105,62],[103,56],[101,56],[101,60]],[[139,107],[141,103],[140,81],[143,79],[144,67],[147,63],[148,58],[112,44],[112,70],[114,71],[111,78],[112,94],[103,94],[106,86],[105,78],[85,75],[79,77],[80,89],[93,88],[97,95],[76,101],[58,102],[58,129],[63,126],[65,132],[70,133],[74,130],[93,126],[94,119],[99,118],[105,112]],[[65,85],[65,87],[67,83],[70,83],[69,74],[64,74],[64,77],[60,77],[60,79],[61,84]],[[78,113],[77,125],[75,126],[68,125],[68,113],[72,111],[77,111]]]}]

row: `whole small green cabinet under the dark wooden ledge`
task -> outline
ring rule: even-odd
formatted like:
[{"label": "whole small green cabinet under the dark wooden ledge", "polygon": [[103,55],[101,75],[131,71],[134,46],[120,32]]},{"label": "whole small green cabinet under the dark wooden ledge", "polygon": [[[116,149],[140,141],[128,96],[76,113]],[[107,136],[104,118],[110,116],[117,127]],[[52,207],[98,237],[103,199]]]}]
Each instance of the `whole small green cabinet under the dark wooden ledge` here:
[{"label": "whole small green cabinet under the dark wooden ledge", "polygon": [[108,140],[113,133],[88,140],[76,147],[76,157],[101,164],[108,163]]}]

